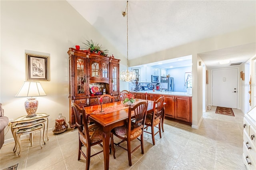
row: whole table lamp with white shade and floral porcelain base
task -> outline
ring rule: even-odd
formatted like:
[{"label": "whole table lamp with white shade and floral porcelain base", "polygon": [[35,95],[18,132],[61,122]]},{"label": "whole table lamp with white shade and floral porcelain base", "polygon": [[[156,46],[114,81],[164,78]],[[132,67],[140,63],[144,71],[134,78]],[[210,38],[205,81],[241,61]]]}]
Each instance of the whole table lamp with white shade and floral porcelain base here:
[{"label": "whole table lamp with white shade and floral porcelain base", "polygon": [[35,97],[37,96],[46,96],[44,89],[38,81],[24,81],[22,87],[15,95],[15,97],[30,97],[24,104],[28,114],[27,117],[36,116],[38,101]]}]

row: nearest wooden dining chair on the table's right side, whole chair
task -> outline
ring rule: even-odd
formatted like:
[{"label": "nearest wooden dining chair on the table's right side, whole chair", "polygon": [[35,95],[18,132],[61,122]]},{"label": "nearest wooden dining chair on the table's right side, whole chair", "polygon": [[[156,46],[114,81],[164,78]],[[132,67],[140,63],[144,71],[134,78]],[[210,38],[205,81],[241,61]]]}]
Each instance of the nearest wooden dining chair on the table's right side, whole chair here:
[{"label": "nearest wooden dining chair on the table's right side, whole chair", "polygon": [[[131,154],[136,149],[141,147],[141,153],[144,154],[143,128],[145,125],[147,108],[148,108],[148,102],[146,101],[137,103],[133,107],[130,106],[128,111],[128,122],[126,123],[126,125],[121,127],[116,127],[111,130],[111,133],[110,133],[111,148],[113,151],[114,159],[116,159],[114,145],[128,152],[128,161],[130,166],[132,166]],[[132,114],[134,114],[134,116]],[[114,143],[114,137],[113,137],[114,135],[122,139],[122,141],[118,143]],[[140,138],[138,138],[139,136]],[[131,151],[131,141],[136,138],[140,140],[140,145],[138,145],[136,148],[134,148],[134,150]],[[123,146],[120,145],[124,141],[127,142],[127,148],[124,148]]]}]

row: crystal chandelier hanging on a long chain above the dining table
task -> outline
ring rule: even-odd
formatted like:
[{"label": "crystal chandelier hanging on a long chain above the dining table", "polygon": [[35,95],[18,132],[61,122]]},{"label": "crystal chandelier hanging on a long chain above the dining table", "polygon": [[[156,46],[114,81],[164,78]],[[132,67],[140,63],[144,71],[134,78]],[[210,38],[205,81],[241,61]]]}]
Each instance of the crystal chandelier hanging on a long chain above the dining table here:
[{"label": "crystal chandelier hanging on a long chain above the dining table", "polygon": [[126,9],[124,12],[122,12],[122,15],[125,17],[126,16],[126,25],[127,25],[127,32],[126,32],[126,37],[127,37],[127,70],[122,70],[120,73],[120,79],[122,81],[134,81],[136,79],[136,73],[135,71],[128,70],[128,1],[126,4]]}]

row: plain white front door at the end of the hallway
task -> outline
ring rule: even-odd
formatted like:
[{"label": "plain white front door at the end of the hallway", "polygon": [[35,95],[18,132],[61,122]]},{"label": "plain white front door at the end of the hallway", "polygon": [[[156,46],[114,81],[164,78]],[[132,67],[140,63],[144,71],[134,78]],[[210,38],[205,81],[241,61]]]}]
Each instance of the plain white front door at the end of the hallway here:
[{"label": "plain white front door at the end of the hallway", "polygon": [[212,70],[212,105],[237,109],[238,69]]}]

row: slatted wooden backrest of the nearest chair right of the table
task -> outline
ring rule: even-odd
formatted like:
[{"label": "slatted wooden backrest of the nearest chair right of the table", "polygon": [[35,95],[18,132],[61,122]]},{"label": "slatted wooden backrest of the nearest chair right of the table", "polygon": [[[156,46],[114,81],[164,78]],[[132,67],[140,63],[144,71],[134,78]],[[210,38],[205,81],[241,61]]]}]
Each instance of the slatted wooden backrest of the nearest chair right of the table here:
[{"label": "slatted wooden backrest of the nearest chair right of the table", "polygon": [[[128,136],[133,134],[138,129],[144,128],[145,120],[146,120],[146,114],[148,109],[148,102],[142,101],[140,103],[137,103],[133,107],[129,107],[129,113],[128,113]],[[132,114],[134,113],[134,116]]]}]

